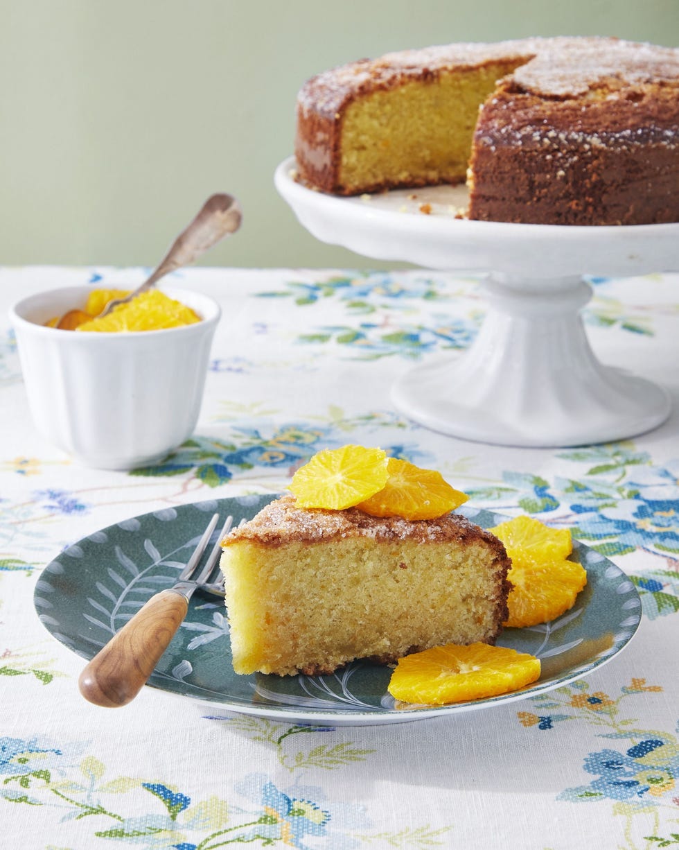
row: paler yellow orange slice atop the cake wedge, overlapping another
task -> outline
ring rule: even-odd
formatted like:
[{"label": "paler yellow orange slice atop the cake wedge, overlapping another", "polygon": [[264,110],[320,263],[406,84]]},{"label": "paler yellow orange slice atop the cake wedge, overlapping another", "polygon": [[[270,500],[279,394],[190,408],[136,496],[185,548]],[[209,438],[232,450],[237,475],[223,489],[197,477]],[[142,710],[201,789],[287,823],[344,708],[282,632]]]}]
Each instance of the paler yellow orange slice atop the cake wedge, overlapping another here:
[{"label": "paler yellow orange slice atop the cake wedge, overlapping another", "polygon": [[342,511],[373,496],[387,483],[387,453],[362,445],[325,449],[292,476],[299,507]]}]

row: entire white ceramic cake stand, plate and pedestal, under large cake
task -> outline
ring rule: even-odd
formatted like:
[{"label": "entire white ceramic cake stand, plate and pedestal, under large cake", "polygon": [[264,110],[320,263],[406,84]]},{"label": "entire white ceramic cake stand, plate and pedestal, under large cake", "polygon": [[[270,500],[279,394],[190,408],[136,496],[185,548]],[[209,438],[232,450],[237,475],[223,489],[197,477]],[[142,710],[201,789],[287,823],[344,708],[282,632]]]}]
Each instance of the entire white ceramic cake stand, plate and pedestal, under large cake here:
[{"label": "entire white ceramic cake stand, plate and pedestal, under large cake", "polygon": [[340,198],[298,184],[294,169],[293,158],[281,162],[274,182],[317,239],[366,257],[486,275],[488,310],[472,346],[416,366],[393,386],[394,405],[415,422],[486,443],[569,446],[626,439],[669,416],[665,389],[597,360],[580,310],[591,298],[583,275],[679,269],[679,224],[468,221],[455,218],[467,205],[464,187]]}]

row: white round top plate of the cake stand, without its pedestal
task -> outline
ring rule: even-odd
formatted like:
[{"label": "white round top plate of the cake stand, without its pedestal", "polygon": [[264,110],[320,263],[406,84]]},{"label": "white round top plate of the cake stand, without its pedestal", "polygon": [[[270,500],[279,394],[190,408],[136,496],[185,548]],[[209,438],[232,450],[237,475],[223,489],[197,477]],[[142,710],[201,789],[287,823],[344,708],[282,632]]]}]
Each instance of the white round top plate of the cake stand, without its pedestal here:
[{"label": "white round top plate of the cake stand, without its pedestal", "polygon": [[[455,218],[467,206],[464,186],[337,197],[297,183],[295,169],[294,157],[282,161],[274,183],[300,223],[320,241],[365,257],[543,279],[679,269],[679,224],[597,227],[469,221]],[[430,205],[431,212],[422,212],[422,204]]]}]

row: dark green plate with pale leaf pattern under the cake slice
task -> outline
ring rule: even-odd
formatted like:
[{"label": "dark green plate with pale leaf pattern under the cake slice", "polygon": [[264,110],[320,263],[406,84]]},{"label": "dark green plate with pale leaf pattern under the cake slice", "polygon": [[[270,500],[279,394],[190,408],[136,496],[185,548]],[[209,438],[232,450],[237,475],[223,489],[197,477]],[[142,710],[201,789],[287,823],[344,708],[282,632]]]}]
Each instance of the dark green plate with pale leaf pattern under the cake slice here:
[{"label": "dark green plate with pale leaf pattern under the cake slice", "polygon": [[[155,592],[170,587],[210,515],[250,519],[275,496],[201,501],[146,513],[95,531],[68,547],[37,582],[35,606],[48,632],[90,659]],[[461,508],[486,528],[506,517]],[[215,538],[216,539],[216,538]],[[540,679],[521,691],[452,706],[399,707],[388,667],[363,662],[333,676],[238,676],[221,599],[196,593],[189,613],[150,677],[151,688],[221,708],[294,723],[399,723],[522,700],[586,676],[620,652],[641,619],[637,590],[614,564],[580,543],[574,555],[587,586],[574,608],[543,626],[506,629],[502,646],[540,658]]]}]

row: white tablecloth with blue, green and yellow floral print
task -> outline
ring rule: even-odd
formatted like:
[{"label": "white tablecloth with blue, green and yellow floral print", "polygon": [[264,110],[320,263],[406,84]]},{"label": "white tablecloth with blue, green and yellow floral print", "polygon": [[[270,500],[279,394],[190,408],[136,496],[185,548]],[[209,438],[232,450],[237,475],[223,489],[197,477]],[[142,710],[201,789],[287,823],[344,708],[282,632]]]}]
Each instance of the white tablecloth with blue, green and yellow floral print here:
[{"label": "white tablecloth with blue, green and yellow floral print", "polygon": [[[7,308],[143,276],[0,269],[0,846],[679,847],[679,275],[592,280],[584,312],[602,360],[670,389],[670,420],[533,450],[433,433],[390,404],[403,370],[473,339],[476,280],[185,270],[175,281],[224,310],[195,435],[134,473],[77,467],[33,428]],[[636,585],[631,643],[547,694],[415,723],[274,722],[150,688],[116,710],[82,699],[82,659],[33,604],[46,564],[142,513],[282,490],[315,451],[348,442],[437,468],[479,507],[571,528]]]}]

